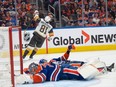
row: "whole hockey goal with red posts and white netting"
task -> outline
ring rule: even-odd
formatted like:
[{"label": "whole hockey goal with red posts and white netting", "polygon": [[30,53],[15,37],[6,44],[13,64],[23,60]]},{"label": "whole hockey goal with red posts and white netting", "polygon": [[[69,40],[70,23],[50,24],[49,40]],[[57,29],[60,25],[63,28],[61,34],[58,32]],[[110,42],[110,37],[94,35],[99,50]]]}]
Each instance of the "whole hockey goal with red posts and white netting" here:
[{"label": "whole hockey goal with red posts and white netting", "polygon": [[20,27],[0,27],[0,87],[15,87],[15,74],[23,73]]}]

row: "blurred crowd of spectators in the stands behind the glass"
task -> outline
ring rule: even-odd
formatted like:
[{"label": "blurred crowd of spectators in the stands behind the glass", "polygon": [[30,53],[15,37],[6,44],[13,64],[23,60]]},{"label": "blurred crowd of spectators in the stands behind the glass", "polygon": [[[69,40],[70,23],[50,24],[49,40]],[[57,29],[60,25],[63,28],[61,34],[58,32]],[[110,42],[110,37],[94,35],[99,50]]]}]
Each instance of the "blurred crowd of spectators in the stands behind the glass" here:
[{"label": "blurred crowd of spectators in the stands behind the glass", "polygon": [[54,15],[54,27],[116,26],[116,0],[0,0],[0,26],[35,28],[33,12]]}]

